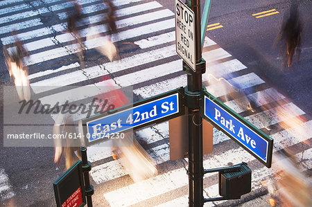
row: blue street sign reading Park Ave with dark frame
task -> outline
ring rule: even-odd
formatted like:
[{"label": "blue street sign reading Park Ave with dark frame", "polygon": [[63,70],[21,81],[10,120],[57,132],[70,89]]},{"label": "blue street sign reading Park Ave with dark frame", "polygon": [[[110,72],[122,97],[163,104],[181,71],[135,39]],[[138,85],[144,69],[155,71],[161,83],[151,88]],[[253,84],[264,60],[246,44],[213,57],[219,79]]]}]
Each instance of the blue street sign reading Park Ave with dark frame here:
[{"label": "blue street sign reading Park Ave with dark frame", "polygon": [[254,127],[232,109],[205,91],[203,99],[203,118],[220,128],[227,136],[234,139],[250,154],[270,168],[272,162],[273,140]]}]

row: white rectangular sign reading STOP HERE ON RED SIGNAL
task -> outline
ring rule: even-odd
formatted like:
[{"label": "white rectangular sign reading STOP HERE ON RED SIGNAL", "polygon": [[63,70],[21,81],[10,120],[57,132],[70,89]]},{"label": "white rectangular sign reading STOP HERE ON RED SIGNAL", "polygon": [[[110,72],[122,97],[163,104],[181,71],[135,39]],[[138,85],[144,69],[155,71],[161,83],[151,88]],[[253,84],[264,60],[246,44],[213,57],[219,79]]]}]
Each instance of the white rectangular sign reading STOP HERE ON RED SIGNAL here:
[{"label": "white rectangular sign reading STOP HERE ON RED SIGNAL", "polygon": [[175,50],[196,72],[195,44],[195,14],[180,0],[175,0]]}]

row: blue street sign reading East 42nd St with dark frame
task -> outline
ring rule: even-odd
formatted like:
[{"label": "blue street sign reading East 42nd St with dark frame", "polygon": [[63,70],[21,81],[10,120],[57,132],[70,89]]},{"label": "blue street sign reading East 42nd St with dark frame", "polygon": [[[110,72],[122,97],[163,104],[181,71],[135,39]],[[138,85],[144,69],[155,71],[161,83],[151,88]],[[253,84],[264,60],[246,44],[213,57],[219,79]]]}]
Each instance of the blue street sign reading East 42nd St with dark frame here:
[{"label": "blue street sign reading East 42nd St with dark frame", "polygon": [[113,114],[105,113],[83,120],[87,144],[104,141],[109,134],[138,129],[180,116],[184,113],[180,98],[178,90],[169,91],[136,102],[133,106],[114,109]]}]

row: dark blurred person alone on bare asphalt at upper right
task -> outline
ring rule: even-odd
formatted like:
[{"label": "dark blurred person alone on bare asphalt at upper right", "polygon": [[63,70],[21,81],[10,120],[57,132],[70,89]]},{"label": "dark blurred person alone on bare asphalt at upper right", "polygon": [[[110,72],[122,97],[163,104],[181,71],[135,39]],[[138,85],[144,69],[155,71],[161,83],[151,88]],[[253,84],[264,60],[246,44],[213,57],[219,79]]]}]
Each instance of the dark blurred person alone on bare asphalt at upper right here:
[{"label": "dark blurred person alone on bare asphalt at upper right", "polygon": [[[277,41],[286,40],[286,51],[284,53],[283,64],[286,62],[288,67],[293,64],[293,55],[295,50],[300,46],[301,35],[302,35],[302,24],[300,22],[300,17],[298,13],[297,5],[292,4],[290,15],[288,18],[284,17],[284,24],[281,26],[279,35],[277,36]],[[297,60],[299,60],[300,51],[297,50]]]}]

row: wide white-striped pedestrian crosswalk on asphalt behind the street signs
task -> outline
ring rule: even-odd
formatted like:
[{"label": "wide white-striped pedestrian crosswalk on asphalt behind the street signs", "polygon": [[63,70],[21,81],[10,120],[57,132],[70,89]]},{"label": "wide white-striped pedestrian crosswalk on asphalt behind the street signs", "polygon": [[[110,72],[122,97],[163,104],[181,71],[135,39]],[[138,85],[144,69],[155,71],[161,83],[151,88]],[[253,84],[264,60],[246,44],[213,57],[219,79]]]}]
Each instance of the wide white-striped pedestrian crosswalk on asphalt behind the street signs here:
[{"label": "wide white-striped pedestrian crosswalk on asphalt behind the street signs", "polygon": [[[129,53],[121,51],[121,60],[109,62],[98,54],[96,57],[94,50],[99,42],[105,40],[105,37],[97,34],[107,34],[107,28],[100,24],[107,7],[101,0],[79,2],[86,15],[80,25],[82,37],[95,37],[84,42],[88,49],[87,56],[95,54],[94,57],[88,57],[92,61],[87,60],[84,69],[80,68],[78,57],[73,55],[76,53],[76,45],[69,43],[73,37],[62,33],[66,28],[66,9],[71,6],[69,1],[0,2],[1,42],[8,45],[14,41],[10,36],[11,30],[17,30],[19,39],[25,42],[31,53],[25,62],[29,67],[28,78],[33,92],[40,95],[49,92],[51,87],[60,89],[79,86],[42,96],[40,100],[43,104],[54,105],[53,101],[60,101],[62,97],[64,102],[74,102],[96,96],[103,91],[98,89],[90,92],[87,87],[106,83],[116,87],[133,87],[137,99],[149,98],[187,84],[186,75],[182,72],[182,60],[175,53],[175,21],[171,10],[153,0],[115,0],[116,25],[120,32],[112,37],[112,42],[133,42],[137,48]],[[52,23],[44,21],[47,17],[53,17]],[[207,62],[207,72],[202,75],[207,91],[274,138],[274,154],[286,147],[311,143],[312,133],[309,129],[312,122],[304,119],[304,111],[295,103],[266,84],[208,37],[205,38],[202,57]],[[112,79],[102,80],[101,77],[105,75],[110,75]],[[224,77],[226,81],[222,79]],[[247,100],[254,102],[254,111],[241,104],[246,100],[244,96],[231,96],[238,90],[245,91]],[[74,119],[80,118],[75,116]],[[123,180],[128,180],[128,172],[119,161],[112,159],[110,147],[91,146],[88,147],[88,158],[94,163],[90,172],[92,183],[94,186],[103,186],[98,193],[110,206],[187,206],[186,165],[182,160],[170,161],[168,123],[146,127],[135,134],[157,163],[159,174],[138,183],[125,183]],[[311,157],[311,149],[302,148],[295,154],[306,169],[311,169],[311,162],[302,159],[303,154]],[[262,167],[243,148],[214,129],[214,152],[204,156],[204,167],[219,168],[227,163],[241,161],[252,168],[252,190],[263,188],[260,181],[275,173],[274,164],[270,169]],[[217,182],[216,174],[205,175],[205,196],[218,196]],[[106,185],[114,185],[114,188],[105,188]],[[229,201],[208,203],[205,206],[216,206],[223,202]]]}]

